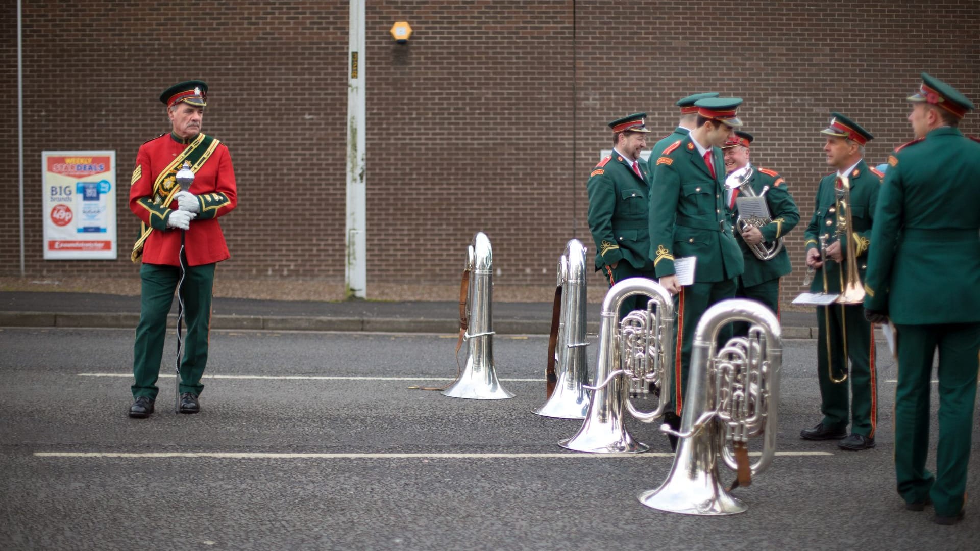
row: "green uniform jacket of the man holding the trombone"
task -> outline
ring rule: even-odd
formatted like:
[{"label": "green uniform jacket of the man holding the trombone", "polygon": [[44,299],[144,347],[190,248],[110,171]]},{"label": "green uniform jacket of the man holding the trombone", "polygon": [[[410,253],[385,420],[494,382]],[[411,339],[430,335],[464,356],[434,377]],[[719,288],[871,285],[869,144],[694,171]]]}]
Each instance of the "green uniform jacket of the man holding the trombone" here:
[{"label": "green uniform jacket of the man holding the trombone", "polygon": [[[874,219],[874,209],[878,203],[878,190],[881,188],[881,176],[878,171],[870,168],[861,159],[858,166],[851,171],[851,218],[854,227],[851,228],[855,240],[855,252],[858,257],[858,275],[864,280],[867,268],[867,254],[871,245],[871,221]],[[835,207],[836,191],[834,189],[837,172],[823,176],[820,187],[816,190],[816,209],[813,218],[809,219],[804,237],[807,239],[807,251],[820,249],[820,235],[826,234],[827,245],[837,240],[837,209]],[[842,247],[844,245],[842,244]],[[842,253],[844,249],[842,248]],[[828,257],[829,258],[829,257]],[[841,292],[840,265],[830,261],[813,275],[809,285],[811,292],[823,290],[823,270],[827,271],[827,292]],[[845,273],[845,275],[847,275]]]}]

